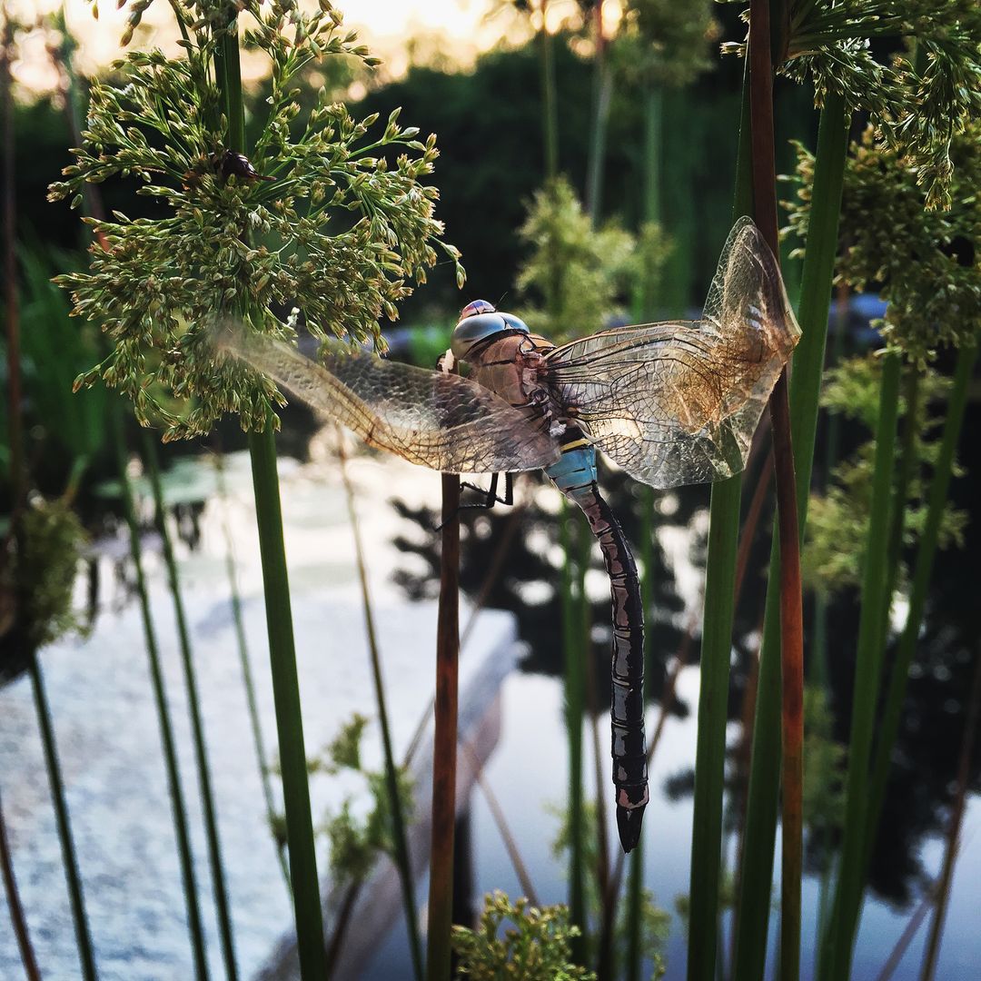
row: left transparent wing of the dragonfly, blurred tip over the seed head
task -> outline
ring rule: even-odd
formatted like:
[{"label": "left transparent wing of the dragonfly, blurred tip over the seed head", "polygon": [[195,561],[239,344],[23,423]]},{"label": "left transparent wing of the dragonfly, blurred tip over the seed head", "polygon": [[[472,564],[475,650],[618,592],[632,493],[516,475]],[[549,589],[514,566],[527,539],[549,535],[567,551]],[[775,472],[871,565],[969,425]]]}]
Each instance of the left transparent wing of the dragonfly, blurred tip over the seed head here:
[{"label": "left transparent wing of the dragonfly, blurred tip over the seed head", "polygon": [[232,354],[346,426],[371,446],[444,473],[536,470],[559,458],[555,439],[489,388],[372,354],[335,349],[324,366],[282,341],[241,332]]}]

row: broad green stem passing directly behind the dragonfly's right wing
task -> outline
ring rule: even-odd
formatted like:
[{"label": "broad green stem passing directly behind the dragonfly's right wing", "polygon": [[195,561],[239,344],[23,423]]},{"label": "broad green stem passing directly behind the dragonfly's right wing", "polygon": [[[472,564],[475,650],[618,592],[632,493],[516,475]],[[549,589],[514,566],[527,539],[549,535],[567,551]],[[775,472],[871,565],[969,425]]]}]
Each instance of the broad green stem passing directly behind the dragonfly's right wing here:
[{"label": "broad green stem passing directly behind the dragonfly's right wing", "polygon": [[[749,214],[749,79],[743,81],[734,217]],[[736,557],[742,486],[739,477],[712,485],[705,560],[701,685],[692,816],[688,934],[689,981],[714,981],[719,922],[719,865],[725,776],[729,662],[735,609]]]}]

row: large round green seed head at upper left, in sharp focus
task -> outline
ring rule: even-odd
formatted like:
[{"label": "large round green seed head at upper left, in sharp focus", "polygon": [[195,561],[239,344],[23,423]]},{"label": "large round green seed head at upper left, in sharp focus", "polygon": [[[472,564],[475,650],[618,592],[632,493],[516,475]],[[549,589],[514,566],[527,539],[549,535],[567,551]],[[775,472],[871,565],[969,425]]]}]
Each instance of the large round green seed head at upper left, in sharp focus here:
[{"label": "large round green seed head at upper left, in sharp focus", "polygon": [[[145,6],[133,5],[131,22]],[[174,7],[185,57],[131,52],[117,64],[118,83],[93,83],[84,145],[50,190],[52,200],[72,196],[77,206],[86,181],[132,176],[158,214],[166,209],[165,217],[115,212],[115,221],[91,222],[106,249],[93,245],[88,272],[59,283],[72,290],[74,313],[101,323],[114,344],[77,384],[101,377],[121,388],[141,423],[165,422],[168,439],[206,433],[225,412],[261,430],[282,402],[267,381],[216,356],[216,323],[242,318],[289,336],[294,321],[282,324],[273,310],[298,307],[314,336],[381,346],[379,319],[395,319],[396,302],[425,282],[436,245],[463,276],[456,249],[439,240],[438,191],[422,182],[438,155],[435,136],[421,141],[417,129],[400,128],[398,110],[370,135],[377,116],[352,118],[324,89],[296,129],[291,83],[302,69],[328,55],[374,63],[354,33],[341,30],[340,14],[326,0],[311,14],[286,0],[239,6],[252,24],[245,44],[271,65],[251,162],[274,180],[223,173],[228,121],[213,66],[228,8],[184,2]],[[399,151],[393,163],[390,149]],[[181,418],[161,404],[154,384],[196,404]]]}]

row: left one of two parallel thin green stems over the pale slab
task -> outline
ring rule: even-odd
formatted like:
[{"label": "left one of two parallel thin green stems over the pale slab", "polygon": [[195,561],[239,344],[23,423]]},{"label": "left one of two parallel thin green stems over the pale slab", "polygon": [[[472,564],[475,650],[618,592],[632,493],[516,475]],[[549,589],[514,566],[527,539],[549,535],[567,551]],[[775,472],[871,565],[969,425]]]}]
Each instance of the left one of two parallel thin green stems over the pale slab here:
[{"label": "left one of two parallel thin green stems over the pale slab", "polygon": [[150,682],[153,685],[153,697],[157,704],[160,738],[163,743],[164,763],[167,767],[167,782],[171,792],[171,810],[174,815],[174,830],[177,835],[178,856],[181,861],[184,902],[187,905],[187,925],[190,930],[191,949],[194,955],[194,973],[199,981],[206,981],[208,977],[208,958],[204,947],[204,929],[201,925],[201,910],[198,907],[197,901],[197,886],[194,882],[194,862],[190,851],[190,836],[187,832],[187,809],[184,806],[183,791],[181,790],[181,772],[178,767],[178,754],[174,742],[174,726],[171,723],[171,711],[167,704],[167,692],[164,688],[164,672],[160,664],[160,650],[157,646],[157,636],[153,628],[153,617],[150,612],[150,597],[146,589],[146,578],[143,575],[139,526],[136,523],[132,490],[129,487],[129,477],[127,475],[127,458],[121,413],[122,407],[114,404],[111,408],[112,421],[115,428],[113,442],[116,445],[116,461],[119,469],[123,515],[129,527],[129,559],[132,562],[133,573],[136,578],[136,595],[139,597],[139,609],[143,618],[143,636],[146,643],[146,654],[150,661]]}]

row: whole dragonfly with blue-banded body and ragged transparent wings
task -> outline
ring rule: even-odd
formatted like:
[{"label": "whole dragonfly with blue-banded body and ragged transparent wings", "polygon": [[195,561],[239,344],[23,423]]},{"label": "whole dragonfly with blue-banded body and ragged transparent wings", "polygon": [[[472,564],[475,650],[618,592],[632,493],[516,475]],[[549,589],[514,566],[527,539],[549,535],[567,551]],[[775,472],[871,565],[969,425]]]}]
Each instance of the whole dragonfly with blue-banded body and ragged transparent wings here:
[{"label": "whole dragonfly with blue-banded body and ragged transparent wings", "polygon": [[512,475],[542,469],[584,512],[610,582],[612,775],[620,842],[630,852],[649,800],[644,607],[630,545],[598,487],[596,449],[658,490],[732,477],[746,466],[799,338],[779,266],[743,218],[695,321],[615,328],[556,346],[475,300],[439,371],[339,346],[327,346],[317,363],[255,334],[225,346],[371,446],[444,473],[490,474],[483,506],[510,503]]}]

